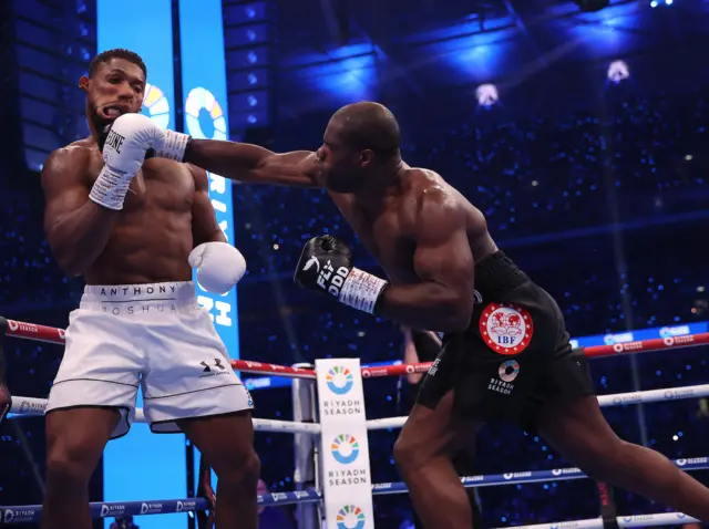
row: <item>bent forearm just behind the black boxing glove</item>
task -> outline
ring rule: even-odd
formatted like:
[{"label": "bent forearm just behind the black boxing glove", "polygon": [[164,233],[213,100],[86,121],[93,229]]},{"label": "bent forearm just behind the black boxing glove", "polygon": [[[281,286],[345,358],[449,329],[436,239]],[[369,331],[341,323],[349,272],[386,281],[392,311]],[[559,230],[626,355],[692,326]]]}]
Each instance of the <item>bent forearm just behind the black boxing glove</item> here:
[{"label": "bent forearm just behind the black boxing glove", "polygon": [[463,331],[470,324],[473,300],[434,282],[389,284],[377,303],[377,313],[414,329]]}]

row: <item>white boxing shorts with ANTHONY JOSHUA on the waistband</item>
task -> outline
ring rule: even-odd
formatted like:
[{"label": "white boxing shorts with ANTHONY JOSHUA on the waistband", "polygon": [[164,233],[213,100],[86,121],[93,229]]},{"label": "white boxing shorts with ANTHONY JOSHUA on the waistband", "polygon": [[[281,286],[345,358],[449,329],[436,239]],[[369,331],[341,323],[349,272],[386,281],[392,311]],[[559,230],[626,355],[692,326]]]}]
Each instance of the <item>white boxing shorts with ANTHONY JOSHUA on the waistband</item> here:
[{"label": "white boxing shorts with ANTHONY JOSHUA on the waistband", "polygon": [[122,419],[112,438],[127,434],[138,385],[155,433],[254,407],[193,282],[86,287],[65,338],[47,412],[115,407]]}]

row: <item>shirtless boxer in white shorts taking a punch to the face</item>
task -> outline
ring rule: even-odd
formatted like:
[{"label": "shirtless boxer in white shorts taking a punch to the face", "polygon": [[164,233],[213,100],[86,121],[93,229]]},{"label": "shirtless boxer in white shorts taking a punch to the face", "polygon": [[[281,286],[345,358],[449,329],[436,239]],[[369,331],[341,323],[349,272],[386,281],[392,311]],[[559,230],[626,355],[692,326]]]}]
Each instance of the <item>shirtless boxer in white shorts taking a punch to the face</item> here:
[{"label": "shirtless boxer in white shorts taking a punch to the face", "polygon": [[[246,263],[217,225],[207,174],[182,163],[187,136],[166,132],[145,159],[146,146],[111,128],[141,111],[145,82],[135,53],[97,55],[79,83],[91,136],[53,152],[42,170],[47,240],[88,284],[50,393],[42,528],[92,527],[89,478],[109,439],[127,433],[141,385],[153,432],[184,432],[217,474],[217,528],[256,529],[251,401],[191,283],[195,268],[205,290],[225,293]],[[203,159],[222,144],[206,145]],[[286,172],[309,153],[237,149],[243,164],[229,173],[243,181],[312,185]]]}]

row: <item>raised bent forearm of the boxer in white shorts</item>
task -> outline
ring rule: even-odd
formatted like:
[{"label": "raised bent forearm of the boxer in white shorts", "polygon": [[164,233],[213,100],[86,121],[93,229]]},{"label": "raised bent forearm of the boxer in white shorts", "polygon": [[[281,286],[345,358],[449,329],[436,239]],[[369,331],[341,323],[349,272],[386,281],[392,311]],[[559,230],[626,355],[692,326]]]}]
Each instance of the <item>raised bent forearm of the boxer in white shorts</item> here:
[{"label": "raised bent forearm of the boxer in white shorts", "polygon": [[69,276],[81,276],[105,248],[120,211],[88,200],[47,232],[54,259]]}]

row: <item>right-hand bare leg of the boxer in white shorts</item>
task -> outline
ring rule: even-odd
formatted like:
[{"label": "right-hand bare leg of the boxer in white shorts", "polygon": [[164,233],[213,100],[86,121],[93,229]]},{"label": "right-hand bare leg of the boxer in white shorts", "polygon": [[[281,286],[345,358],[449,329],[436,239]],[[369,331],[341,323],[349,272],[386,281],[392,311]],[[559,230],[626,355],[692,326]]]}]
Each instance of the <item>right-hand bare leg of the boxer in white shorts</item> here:
[{"label": "right-hand bare leg of the boxer in white shorts", "polygon": [[260,460],[248,411],[178,422],[217,475],[216,529],[258,529]]}]

